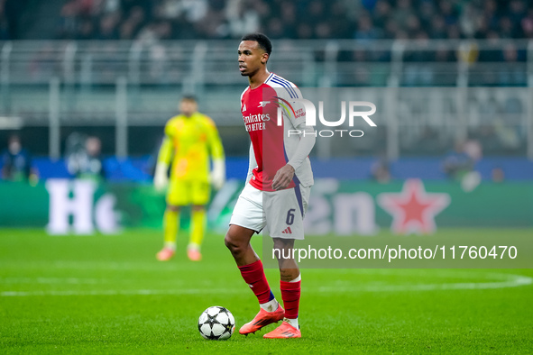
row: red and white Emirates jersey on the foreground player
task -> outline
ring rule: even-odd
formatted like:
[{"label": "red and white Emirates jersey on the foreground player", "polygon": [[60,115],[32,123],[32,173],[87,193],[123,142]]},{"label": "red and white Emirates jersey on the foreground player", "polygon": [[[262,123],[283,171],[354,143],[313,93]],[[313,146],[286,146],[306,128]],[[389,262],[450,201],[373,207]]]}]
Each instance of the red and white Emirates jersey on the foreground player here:
[{"label": "red and white Emirates jersey on the foreground player", "polygon": [[[274,191],[272,179],[287,163],[295,168],[287,188],[313,185],[308,154],[316,137],[313,128],[306,126],[304,105],[294,101],[299,98],[302,97],[297,86],[273,73],[261,86],[244,90],[241,112],[252,141],[247,180],[253,187]],[[283,114],[280,125],[278,107]]]}]

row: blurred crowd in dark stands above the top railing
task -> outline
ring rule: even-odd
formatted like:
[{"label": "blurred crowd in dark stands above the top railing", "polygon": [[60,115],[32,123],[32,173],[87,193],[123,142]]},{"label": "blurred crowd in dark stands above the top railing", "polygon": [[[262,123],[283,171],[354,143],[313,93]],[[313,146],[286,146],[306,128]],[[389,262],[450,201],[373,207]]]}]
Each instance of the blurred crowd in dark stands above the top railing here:
[{"label": "blurred crowd in dark stands above the top railing", "polygon": [[0,40],[533,38],[526,0],[0,0]]}]

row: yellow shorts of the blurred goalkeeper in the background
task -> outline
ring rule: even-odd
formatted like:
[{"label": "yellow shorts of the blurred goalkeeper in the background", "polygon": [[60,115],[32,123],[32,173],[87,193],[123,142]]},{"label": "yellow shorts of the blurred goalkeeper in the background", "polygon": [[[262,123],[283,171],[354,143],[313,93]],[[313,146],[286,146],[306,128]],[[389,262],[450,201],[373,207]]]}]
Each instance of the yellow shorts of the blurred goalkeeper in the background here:
[{"label": "yellow shorts of the blurred goalkeeper in the background", "polygon": [[168,205],[207,205],[211,187],[207,181],[170,179]]}]

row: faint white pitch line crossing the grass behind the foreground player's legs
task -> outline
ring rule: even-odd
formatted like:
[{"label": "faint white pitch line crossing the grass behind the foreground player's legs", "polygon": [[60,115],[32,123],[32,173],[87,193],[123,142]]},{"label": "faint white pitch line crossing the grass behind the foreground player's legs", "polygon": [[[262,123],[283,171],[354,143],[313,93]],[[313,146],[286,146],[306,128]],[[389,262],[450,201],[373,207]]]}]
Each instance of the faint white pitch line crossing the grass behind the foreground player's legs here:
[{"label": "faint white pitch line crossing the grass behind the foreground player's legs", "polygon": [[[462,282],[447,284],[413,284],[413,285],[381,285],[381,286],[352,286],[352,287],[318,287],[306,288],[306,293],[328,292],[401,292],[401,291],[435,291],[435,290],[473,290],[494,289],[508,287],[522,287],[533,284],[533,278],[511,274],[491,274],[492,277],[506,278],[499,282]],[[4,291],[0,296],[152,296],[152,295],[199,295],[199,294],[238,294],[243,292],[239,287],[232,288],[184,288],[184,289],[138,289],[138,290],[94,290],[94,291]]]}]

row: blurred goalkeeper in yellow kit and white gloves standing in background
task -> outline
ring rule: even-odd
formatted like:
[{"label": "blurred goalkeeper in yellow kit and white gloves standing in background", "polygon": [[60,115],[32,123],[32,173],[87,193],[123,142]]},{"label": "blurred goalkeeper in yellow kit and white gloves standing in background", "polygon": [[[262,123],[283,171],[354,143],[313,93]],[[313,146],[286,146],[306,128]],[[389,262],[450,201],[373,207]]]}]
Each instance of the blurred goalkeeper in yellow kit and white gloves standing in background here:
[{"label": "blurred goalkeeper in yellow kit and white gloves standing in background", "polygon": [[[181,114],[172,117],[165,126],[165,138],[157,159],[153,185],[159,191],[168,187],[167,209],[163,217],[164,246],[157,253],[157,259],[161,261],[169,260],[176,253],[179,212],[184,205],[192,205],[188,259],[202,259],[200,247],[206,229],[210,184],[219,189],[225,183],[224,148],[216,125],[207,115],[200,114],[197,110],[198,104],[194,97],[185,96],[181,99]],[[211,173],[209,156],[213,160]]]}]

